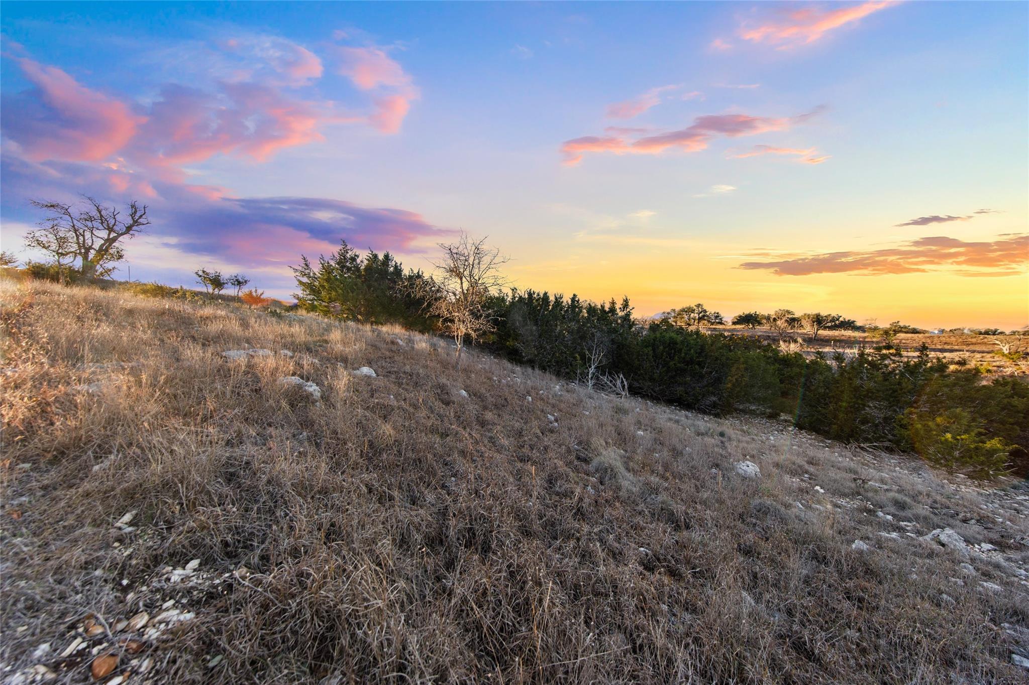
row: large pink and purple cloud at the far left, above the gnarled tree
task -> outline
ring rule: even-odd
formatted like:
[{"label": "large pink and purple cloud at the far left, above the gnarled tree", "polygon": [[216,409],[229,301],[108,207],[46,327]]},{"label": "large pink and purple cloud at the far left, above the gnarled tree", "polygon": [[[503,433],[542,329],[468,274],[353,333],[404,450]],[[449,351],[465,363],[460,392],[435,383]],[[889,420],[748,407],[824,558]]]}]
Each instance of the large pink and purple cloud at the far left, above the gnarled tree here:
[{"label": "large pink and purple cloud at the far left, above the gnarled tree", "polygon": [[27,159],[98,161],[125,146],[145,120],[57,67],[29,58],[15,62],[36,87],[4,99],[3,132]]}]

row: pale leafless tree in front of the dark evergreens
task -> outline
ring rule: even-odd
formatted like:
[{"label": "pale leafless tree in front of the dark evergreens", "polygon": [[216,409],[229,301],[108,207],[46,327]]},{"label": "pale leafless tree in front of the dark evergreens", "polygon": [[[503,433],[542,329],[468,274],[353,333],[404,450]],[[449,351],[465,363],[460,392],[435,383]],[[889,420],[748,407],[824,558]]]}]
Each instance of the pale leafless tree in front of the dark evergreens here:
[{"label": "pale leafless tree in front of the dark evergreens", "polygon": [[472,240],[462,231],[457,242],[438,243],[442,257],[433,263],[436,273],[418,286],[427,309],[439,317],[443,331],[457,344],[457,364],[465,338],[474,342],[495,330],[488,310],[490,296],[507,284],[500,273],[508,258],[486,245],[486,238]]}]

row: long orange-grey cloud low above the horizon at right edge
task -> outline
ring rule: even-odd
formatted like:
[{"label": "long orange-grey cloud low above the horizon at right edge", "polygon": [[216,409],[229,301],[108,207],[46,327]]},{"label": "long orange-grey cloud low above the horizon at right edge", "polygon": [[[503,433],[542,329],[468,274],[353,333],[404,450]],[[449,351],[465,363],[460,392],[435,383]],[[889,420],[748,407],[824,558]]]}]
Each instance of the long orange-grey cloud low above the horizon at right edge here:
[{"label": "long orange-grey cloud low above the horizon at right edge", "polygon": [[837,252],[788,259],[744,262],[741,269],[762,269],[779,276],[814,273],[898,274],[950,269],[965,276],[1025,273],[1029,234],[1004,234],[989,242],[946,236],[917,238],[896,248]]}]

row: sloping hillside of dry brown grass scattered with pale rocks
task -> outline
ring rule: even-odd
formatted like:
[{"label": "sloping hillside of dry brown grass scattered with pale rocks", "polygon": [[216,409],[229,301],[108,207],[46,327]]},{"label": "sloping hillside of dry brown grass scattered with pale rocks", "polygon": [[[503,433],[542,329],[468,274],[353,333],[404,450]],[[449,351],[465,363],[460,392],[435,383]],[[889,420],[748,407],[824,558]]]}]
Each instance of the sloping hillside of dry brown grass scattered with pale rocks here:
[{"label": "sloping hillside of dry brown grass scattered with pale rocks", "polygon": [[1029,675],[1024,483],[399,329],[0,288],[5,682]]}]

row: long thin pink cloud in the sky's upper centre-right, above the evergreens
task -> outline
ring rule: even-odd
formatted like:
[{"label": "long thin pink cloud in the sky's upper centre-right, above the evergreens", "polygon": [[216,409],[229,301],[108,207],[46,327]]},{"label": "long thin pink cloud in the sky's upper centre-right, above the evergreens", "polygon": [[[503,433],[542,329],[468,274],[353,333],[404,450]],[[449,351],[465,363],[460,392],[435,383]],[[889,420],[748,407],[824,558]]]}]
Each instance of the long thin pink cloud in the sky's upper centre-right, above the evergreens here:
[{"label": "long thin pink cloud in the sky's upper centre-right, above the evergreens", "polygon": [[582,161],[588,152],[610,152],[623,154],[661,154],[667,150],[697,152],[707,148],[715,137],[738,138],[753,136],[771,130],[785,130],[793,124],[803,123],[816,115],[822,108],[794,117],[774,118],[750,116],[747,114],[709,114],[694,119],[693,125],[680,130],[672,130],[630,140],[629,136],[587,136],[566,141],[561,146],[564,164],[573,166]]}]

